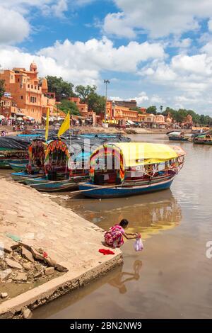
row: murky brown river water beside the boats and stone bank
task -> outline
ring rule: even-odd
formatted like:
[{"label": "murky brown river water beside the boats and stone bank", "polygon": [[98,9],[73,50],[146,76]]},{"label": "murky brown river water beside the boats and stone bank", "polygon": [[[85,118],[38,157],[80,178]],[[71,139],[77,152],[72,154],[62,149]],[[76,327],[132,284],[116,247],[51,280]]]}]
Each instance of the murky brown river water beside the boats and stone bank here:
[{"label": "murky brown river water beside the boats and stone bank", "polygon": [[[133,139],[168,143],[164,135]],[[128,219],[129,230],[141,232],[144,249],[136,253],[134,240],[126,241],[124,266],[38,308],[35,318],[212,317],[212,259],[206,258],[206,242],[212,240],[212,147],[179,145],[187,157],[170,190],[63,201],[105,230]]]}]

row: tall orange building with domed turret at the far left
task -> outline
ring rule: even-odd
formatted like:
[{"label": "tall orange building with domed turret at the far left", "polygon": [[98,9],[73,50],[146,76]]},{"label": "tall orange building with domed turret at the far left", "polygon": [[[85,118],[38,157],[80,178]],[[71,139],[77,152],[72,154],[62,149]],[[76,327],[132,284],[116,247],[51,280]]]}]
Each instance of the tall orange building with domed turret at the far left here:
[{"label": "tall orange building with domed turret at the far left", "polygon": [[37,77],[37,65],[33,62],[30,64],[30,70],[25,68],[6,69],[0,73],[0,79],[5,81],[5,90],[11,93],[11,97],[16,102],[17,108],[21,110],[20,115],[35,118],[41,121],[42,110],[47,107],[48,99],[45,94],[48,92],[47,80]]}]

